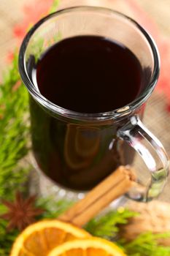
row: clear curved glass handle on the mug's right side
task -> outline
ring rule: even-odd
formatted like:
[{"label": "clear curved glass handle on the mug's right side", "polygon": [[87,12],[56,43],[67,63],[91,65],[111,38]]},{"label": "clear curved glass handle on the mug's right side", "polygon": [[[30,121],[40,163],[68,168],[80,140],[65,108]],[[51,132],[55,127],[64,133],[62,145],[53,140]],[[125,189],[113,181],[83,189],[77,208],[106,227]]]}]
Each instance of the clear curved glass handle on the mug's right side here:
[{"label": "clear curved glass handle on the mug's right side", "polygon": [[[163,190],[169,174],[169,158],[161,142],[144,127],[139,116],[132,116],[127,124],[118,129],[117,137],[124,140],[137,151],[151,173],[150,184],[147,187],[141,186],[140,184],[139,186],[133,187],[128,192],[128,197],[143,202],[158,197]],[[144,146],[145,142],[155,149],[161,160],[161,167],[158,167],[158,160],[152,157],[151,151],[147,146]]]}]

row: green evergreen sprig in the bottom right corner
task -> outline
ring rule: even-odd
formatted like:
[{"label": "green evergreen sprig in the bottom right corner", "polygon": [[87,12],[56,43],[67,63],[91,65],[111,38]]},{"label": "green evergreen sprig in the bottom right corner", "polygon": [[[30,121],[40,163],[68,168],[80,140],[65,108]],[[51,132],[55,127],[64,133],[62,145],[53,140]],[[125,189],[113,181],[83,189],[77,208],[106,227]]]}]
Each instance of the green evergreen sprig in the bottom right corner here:
[{"label": "green evergreen sprig in the bottom right corner", "polygon": [[170,233],[153,234],[151,232],[142,233],[133,241],[121,245],[129,256],[169,256],[170,246],[158,244],[160,238],[169,238]]}]

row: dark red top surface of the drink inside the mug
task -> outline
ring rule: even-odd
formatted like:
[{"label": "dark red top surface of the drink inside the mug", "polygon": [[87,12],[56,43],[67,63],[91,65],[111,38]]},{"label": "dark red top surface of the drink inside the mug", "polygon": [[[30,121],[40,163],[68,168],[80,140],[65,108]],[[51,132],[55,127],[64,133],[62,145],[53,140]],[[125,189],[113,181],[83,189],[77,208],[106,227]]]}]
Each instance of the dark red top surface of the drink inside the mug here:
[{"label": "dark red top surface of the drink inside the mug", "polygon": [[36,67],[39,91],[51,102],[80,113],[115,110],[141,90],[136,56],[104,37],[72,37],[54,45]]}]

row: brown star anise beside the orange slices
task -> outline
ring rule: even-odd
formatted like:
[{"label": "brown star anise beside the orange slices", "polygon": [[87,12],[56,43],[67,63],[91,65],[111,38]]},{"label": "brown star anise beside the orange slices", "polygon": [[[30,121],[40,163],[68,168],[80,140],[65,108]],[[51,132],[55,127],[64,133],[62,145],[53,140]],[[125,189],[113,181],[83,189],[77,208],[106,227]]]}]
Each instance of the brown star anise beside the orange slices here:
[{"label": "brown star anise beside the orange slices", "polygon": [[2,200],[2,203],[7,206],[8,211],[0,217],[9,221],[7,230],[12,230],[15,227],[18,230],[23,230],[36,221],[35,217],[42,214],[43,210],[34,206],[35,200],[36,197],[34,195],[23,199],[20,192],[16,192],[14,202]]}]

